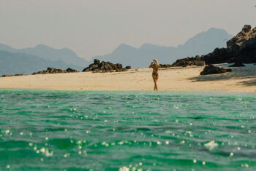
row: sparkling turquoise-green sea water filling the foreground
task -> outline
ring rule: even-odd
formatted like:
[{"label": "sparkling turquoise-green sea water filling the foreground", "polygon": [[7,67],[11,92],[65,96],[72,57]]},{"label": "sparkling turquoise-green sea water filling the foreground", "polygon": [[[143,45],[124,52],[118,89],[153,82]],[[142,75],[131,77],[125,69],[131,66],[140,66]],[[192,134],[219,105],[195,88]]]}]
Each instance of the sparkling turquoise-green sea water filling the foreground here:
[{"label": "sparkling turquoise-green sea water filling the foreground", "polygon": [[0,90],[0,170],[255,170],[256,95]]}]

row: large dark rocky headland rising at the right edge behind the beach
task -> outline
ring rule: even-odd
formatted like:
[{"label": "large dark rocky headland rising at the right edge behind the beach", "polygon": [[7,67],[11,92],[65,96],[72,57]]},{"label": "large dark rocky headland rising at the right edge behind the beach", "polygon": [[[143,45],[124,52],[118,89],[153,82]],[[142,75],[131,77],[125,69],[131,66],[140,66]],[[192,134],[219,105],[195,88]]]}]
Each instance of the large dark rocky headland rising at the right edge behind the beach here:
[{"label": "large dark rocky headland rising at the right edge behind the beach", "polygon": [[176,60],[173,65],[196,65],[196,61],[205,61],[207,65],[237,62],[256,63],[256,28],[251,30],[250,25],[244,25],[241,32],[227,41],[227,48],[216,48],[208,55]]}]

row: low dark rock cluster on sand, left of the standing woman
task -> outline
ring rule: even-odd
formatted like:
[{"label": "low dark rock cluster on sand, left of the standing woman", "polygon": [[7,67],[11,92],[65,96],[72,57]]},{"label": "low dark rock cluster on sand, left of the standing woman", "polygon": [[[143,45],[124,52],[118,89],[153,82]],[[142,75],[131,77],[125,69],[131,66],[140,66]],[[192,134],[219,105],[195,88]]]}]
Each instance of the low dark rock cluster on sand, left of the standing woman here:
[{"label": "low dark rock cluster on sand, left of the standing woman", "polygon": [[100,62],[99,60],[95,59],[94,63],[90,64],[89,67],[84,68],[83,72],[89,72],[89,71],[94,71],[94,72],[106,72],[106,71],[127,71],[130,69],[130,66],[127,66],[123,68],[123,65],[120,63],[110,63],[110,62],[105,62],[102,61]]}]

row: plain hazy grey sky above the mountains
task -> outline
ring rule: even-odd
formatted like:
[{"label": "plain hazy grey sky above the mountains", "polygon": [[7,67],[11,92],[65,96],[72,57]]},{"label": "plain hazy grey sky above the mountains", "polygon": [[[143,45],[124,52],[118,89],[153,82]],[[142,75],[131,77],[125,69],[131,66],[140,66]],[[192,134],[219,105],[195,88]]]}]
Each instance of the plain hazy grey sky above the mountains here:
[{"label": "plain hazy grey sky above the mountains", "polygon": [[0,43],[67,47],[87,60],[119,44],[176,47],[209,28],[255,27],[256,0],[0,0]]}]

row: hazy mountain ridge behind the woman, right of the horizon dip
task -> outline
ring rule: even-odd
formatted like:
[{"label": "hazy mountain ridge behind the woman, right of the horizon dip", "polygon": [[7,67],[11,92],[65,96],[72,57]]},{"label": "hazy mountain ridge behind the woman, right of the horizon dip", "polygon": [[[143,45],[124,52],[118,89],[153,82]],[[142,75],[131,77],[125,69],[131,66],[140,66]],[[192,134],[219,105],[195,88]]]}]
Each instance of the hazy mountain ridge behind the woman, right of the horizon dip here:
[{"label": "hazy mountain ridge behind the woman, right of the horizon dip", "polygon": [[171,64],[180,58],[205,55],[217,47],[226,47],[226,41],[232,37],[223,29],[211,28],[193,36],[185,44],[178,47],[143,44],[140,48],[135,48],[121,44],[112,53],[96,56],[93,59],[131,65],[132,68],[148,67],[154,58],[157,58],[159,63]]}]

